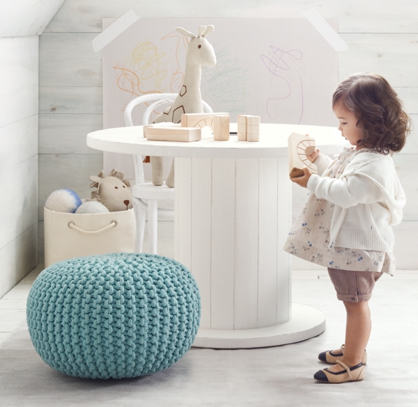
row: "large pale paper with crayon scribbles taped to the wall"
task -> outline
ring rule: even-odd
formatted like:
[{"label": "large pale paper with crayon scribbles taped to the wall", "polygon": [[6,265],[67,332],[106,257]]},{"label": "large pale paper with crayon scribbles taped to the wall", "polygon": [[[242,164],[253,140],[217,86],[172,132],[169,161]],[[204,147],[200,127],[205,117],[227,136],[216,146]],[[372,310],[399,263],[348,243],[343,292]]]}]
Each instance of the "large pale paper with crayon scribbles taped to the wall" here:
[{"label": "large pale paper with crayon scribbles taped to the wall", "polygon": [[[103,19],[103,30],[114,21]],[[207,40],[217,64],[203,67],[201,93],[213,111],[229,112],[231,122],[238,114],[251,114],[264,123],[336,125],[331,100],[337,54],[307,19],[145,18],[103,49],[104,129],[125,126],[125,106],[135,97],[178,93],[189,38],[175,29],[197,35],[198,27],[208,24],[215,26]],[[335,20],[330,24],[336,29]],[[145,108],[134,109],[134,125],[141,124]],[[167,171],[170,161],[164,163]],[[134,178],[128,154],[105,152],[105,173],[112,168]]]}]

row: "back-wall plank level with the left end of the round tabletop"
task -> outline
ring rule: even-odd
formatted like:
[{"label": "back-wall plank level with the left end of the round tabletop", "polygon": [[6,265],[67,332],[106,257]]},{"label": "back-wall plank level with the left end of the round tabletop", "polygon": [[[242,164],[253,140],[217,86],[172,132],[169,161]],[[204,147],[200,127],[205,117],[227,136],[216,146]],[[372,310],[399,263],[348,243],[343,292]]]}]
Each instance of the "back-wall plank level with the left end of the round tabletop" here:
[{"label": "back-wall plank level with the left end of the round tabletop", "polygon": [[86,134],[103,128],[101,114],[39,115],[40,154],[103,154],[87,147]]}]

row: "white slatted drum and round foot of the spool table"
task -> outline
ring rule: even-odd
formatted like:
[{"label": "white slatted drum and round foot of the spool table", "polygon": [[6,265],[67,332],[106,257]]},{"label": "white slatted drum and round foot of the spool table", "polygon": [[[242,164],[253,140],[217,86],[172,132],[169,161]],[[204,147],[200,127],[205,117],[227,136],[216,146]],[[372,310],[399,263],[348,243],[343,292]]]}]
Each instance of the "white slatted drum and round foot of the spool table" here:
[{"label": "white slatted drum and round foot of the spool table", "polygon": [[286,157],[175,160],[176,260],[201,293],[193,346],[274,346],[322,333],[322,312],[291,303]]}]

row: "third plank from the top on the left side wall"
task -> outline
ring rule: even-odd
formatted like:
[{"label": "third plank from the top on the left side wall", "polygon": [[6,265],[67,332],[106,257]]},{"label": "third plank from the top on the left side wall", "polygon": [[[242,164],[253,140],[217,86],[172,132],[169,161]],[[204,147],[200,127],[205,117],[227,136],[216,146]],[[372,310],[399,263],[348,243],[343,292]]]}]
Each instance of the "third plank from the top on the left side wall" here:
[{"label": "third plank from the top on the left side wall", "polygon": [[0,127],[0,173],[38,155],[38,115]]}]

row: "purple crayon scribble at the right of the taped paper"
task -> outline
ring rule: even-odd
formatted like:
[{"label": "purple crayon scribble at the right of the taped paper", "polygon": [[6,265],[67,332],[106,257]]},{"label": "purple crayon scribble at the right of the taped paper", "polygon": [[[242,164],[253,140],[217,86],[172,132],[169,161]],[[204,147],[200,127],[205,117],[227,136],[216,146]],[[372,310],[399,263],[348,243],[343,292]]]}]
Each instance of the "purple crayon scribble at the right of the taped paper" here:
[{"label": "purple crayon scribble at the right of the taped paper", "polygon": [[[309,93],[311,77],[302,68],[303,44],[283,48],[270,45],[268,55],[261,55],[265,67],[272,74],[272,97],[265,102],[269,117],[289,124],[300,124],[304,113],[304,95]],[[299,41],[298,41],[299,42]]]}]

